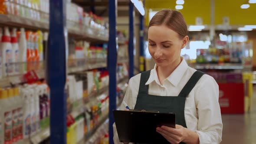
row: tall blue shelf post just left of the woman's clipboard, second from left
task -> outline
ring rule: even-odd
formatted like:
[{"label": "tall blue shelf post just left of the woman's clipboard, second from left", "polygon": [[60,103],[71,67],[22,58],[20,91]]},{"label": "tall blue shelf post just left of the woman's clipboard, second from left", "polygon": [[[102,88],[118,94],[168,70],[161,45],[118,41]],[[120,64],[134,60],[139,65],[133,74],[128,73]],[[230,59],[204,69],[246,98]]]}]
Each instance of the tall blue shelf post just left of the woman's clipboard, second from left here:
[{"label": "tall blue shelf post just left of the woman's clipboard, second from left", "polygon": [[109,144],[113,141],[113,124],[115,122],[112,110],[116,109],[116,65],[117,65],[117,43],[116,43],[116,17],[117,0],[108,1],[109,16],[109,40],[108,40],[108,73],[109,73]]}]

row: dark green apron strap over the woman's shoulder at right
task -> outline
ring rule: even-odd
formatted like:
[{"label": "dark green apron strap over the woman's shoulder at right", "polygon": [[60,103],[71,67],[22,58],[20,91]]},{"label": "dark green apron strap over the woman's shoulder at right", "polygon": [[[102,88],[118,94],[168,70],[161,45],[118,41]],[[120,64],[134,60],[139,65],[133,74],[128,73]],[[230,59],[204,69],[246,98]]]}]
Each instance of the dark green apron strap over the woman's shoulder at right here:
[{"label": "dark green apron strap over the woman's shoulder at right", "polygon": [[180,94],[178,96],[186,98],[187,95],[191,92],[191,90],[194,88],[194,86],[197,84],[199,79],[204,75],[205,73],[201,71],[196,71],[191,76],[191,78],[188,80],[187,84],[184,86],[184,88],[181,90]]}]

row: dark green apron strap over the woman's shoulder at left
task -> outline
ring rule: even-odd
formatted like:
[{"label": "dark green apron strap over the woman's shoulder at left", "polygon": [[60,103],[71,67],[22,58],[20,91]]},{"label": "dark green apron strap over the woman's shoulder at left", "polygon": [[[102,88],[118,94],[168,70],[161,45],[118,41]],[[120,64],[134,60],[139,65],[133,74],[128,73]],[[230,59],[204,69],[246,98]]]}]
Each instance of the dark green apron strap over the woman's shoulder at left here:
[{"label": "dark green apron strap over the woman's shoulder at left", "polygon": [[146,82],[149,79],[150,72],[151,70],[141,73],[141,81],[138,94],[148,94],[148,85],[146,85]]}]

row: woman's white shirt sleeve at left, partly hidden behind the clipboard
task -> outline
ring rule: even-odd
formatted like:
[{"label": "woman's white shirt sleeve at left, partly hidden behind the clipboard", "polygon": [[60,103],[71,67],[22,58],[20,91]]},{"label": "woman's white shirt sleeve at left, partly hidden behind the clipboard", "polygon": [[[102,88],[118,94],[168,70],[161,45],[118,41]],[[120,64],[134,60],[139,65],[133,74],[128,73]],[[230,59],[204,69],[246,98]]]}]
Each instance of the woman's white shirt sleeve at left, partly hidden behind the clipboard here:
[{"label": "woman's white shirt sleeve at left, partly hidden behind the clipboard", "polygon": [[[125,92],[125,97],[124,97],[123,102],[122,102],[122,104],[120,106],[120,110],[125,110],[124,101],[128,105],[129,108],[132,108],[132,101],[131,101],[132,100],[132,98],[131,98],[131,95],[132,95],[132,91],[131,91],[132,90],[132,88],[131,88],[132,84],[131,83],[132,82],[131,81],[132,80],[130,79],[130,81],[128,83],[128,88],[127,88],[127,90]],[[115,144],[123,144],[122,142],[119,141],[118,133],[117,133],[117,130],[116,130],[115,123],[113,124],[113,132],[114,132],[114,137],[113,137],[114,143]]]}]

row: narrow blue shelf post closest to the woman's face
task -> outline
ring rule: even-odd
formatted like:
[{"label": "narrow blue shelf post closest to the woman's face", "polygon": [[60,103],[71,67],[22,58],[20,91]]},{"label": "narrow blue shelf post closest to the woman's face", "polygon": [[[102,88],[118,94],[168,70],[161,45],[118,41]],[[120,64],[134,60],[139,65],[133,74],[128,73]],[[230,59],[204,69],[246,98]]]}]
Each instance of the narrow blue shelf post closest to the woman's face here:
[{"label": "narrow blue shelf post closest to the woman's face", "polygon": [[144,16],[140,15],[140,72],[145,71]]}]

